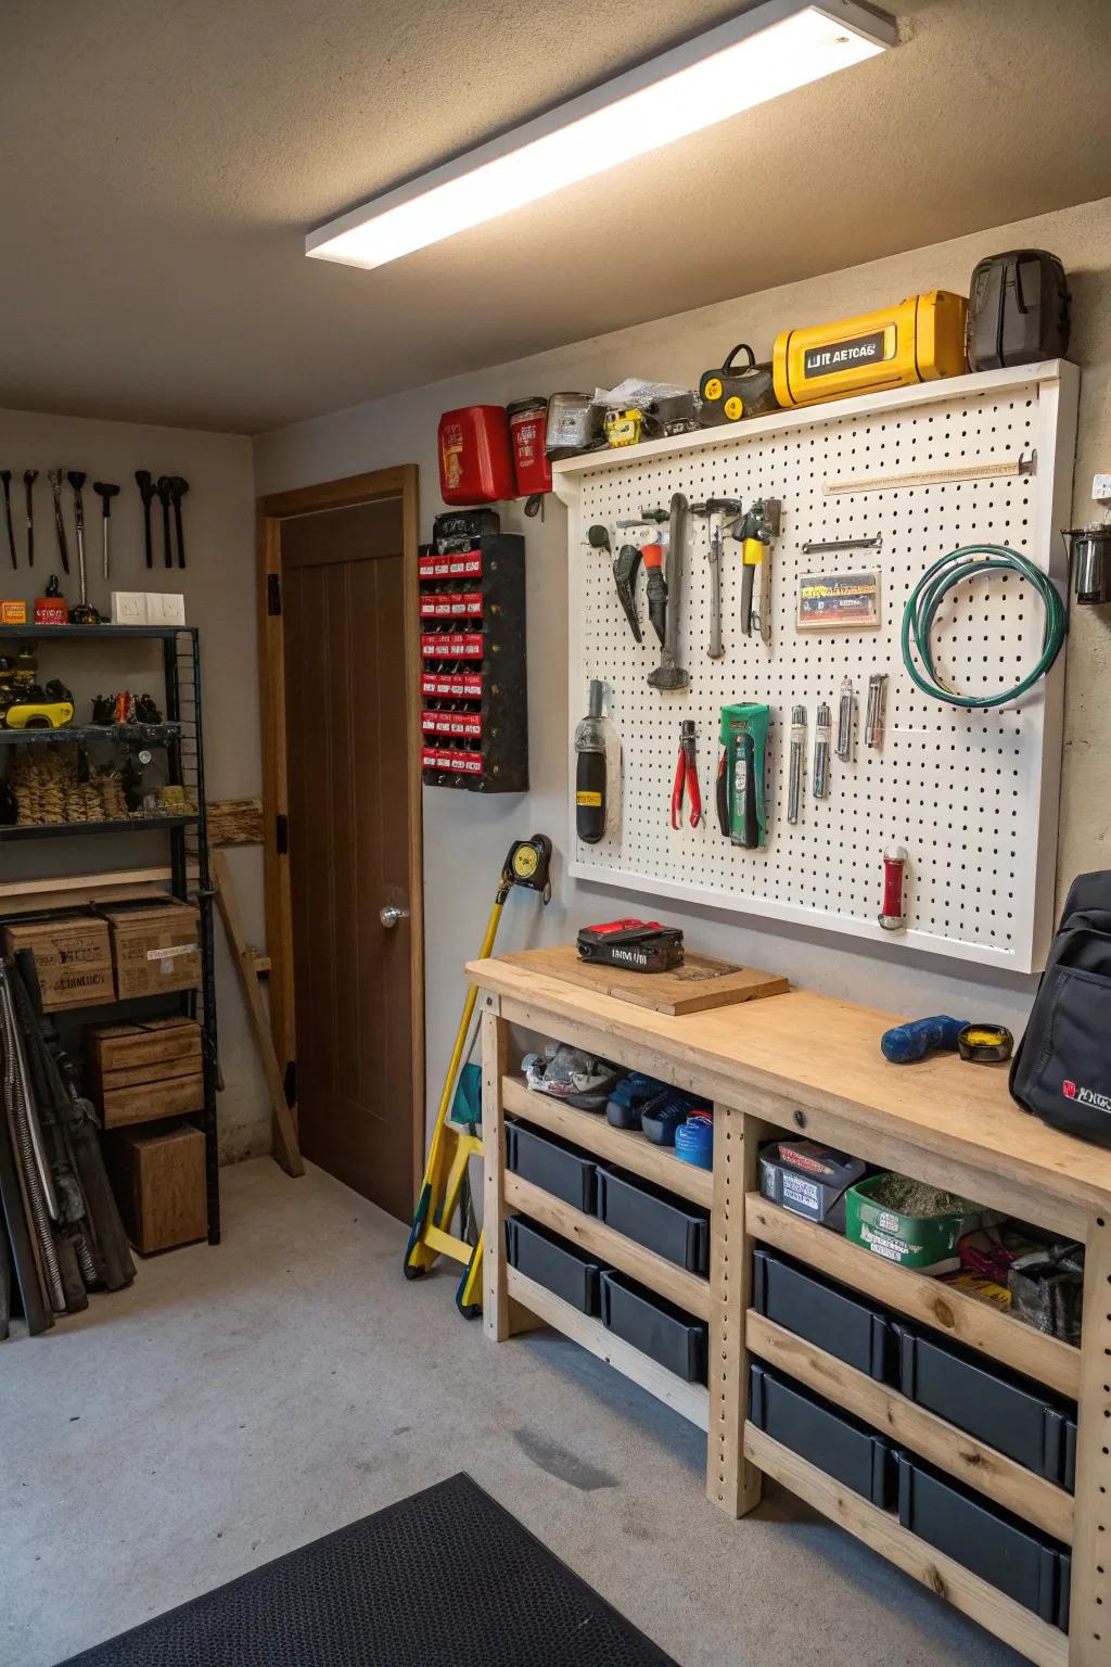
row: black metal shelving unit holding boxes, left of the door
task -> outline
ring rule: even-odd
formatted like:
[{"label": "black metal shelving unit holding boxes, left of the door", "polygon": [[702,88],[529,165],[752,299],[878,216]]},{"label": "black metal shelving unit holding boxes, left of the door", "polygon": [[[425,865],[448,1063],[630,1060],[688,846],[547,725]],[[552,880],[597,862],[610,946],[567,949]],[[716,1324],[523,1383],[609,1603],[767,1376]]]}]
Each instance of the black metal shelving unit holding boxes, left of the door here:
[{"label": "black metal shelving unit holding boxes, left of the door", "polygon": [[[52,653],[52,667],[62,663],[65,655],[65,670],[72,673],[77,680],[77,670],[73,663],[73,653],[77,645],[82,645],[82,652],[100,645],[110,653],[112,643],[150,643],[155,653],[150,660],[160,660],[160,673],[163,682],[163,713],[165,720],[162,723],[130,723],[130,725],[73,725],[63,728],[2,728],[0,727],[0,758],[5,753],[12,753],[17,747],[50,747],[50,745],[97,745],[108,747],[117,752],[125,748],[143,747],[152,753],[162,753],[165,757],[163,773],[168,785],[182,787],[185,790],[185,798],[190,805],[188,812],[182,815],[130,815],[118,817],[107,822],[43,822],[43,823],[15,823],[0,825],[0,852],[3,847],[22,849],[25,844],[37,840],[80,840],[88,835],[147,835],[155,837],[158,834],[167,837],[170,847],[168,862],[168,879],[158,882],[157,890],[160,894],[172,894],[180,902],[190,902],[198,909],[200,914],[200,960],[202,960],[202,984],[197,990],[178,990],[167,995],[142,997],[135,1002],[128,1002],[125,1010],[143,1012],[150,1010],[152,1004],[157,1004],[158,1012],[167,1012],[168,1004],[173,1004],[177,1012],[182,1012],[188,1019],[195,1019],[202,1030],[202,1065],[203,1065],[203,1084],[205,1084],[205,1105],[202,1112],[190,1115],[187,1120],[195,1122],[205,1135],[205,1185],[207,1185],[207,1215],[208,1215],[208,1244],[220,1244],[220,1155],[217,1144],[217,994],[215,994],[215,960],[213,960],[213,927],[212,927],[212,882],[208,874],[208,844],[205,832],[205,758],[203,758],[203,735],[202,735],[202,685],[200,685],[200,642],[195,627],[187,625],[3,625],[0,627],[0,652],[3,652],[5,643],[12,642],[33,642],[38,650],[50,652],[57,643],[55,653]],[[158,652],[160,650],[160,652]],[[103,658],[103,657],[102,657]],[[80,667],[85,673],[85,668]],[[95,670],[95,662],[90,667]],[[137,677],[150,675],[147,665],[143,665],[142,673],[137,672],[133,662],[128,658],[127,670],[122,670],[122,662],[113,657],[107,677]],[[3,857],[0,855],[0,864]],[[2,869],[0,869],[2,872]],[[50,877],[58,875],[58,865],[50,864],[47,869],[43,865],[42,872],[28,874],[25,867],[18,872],[20,890],[27,894],[35,892],[35,882],[42,879],[43,892],[50,889]],[[13,879],[12,872],[5,874],[5,879]],[[85,895],[95,889],[97,874],[90,874],[82,867],[82,880],[88,882],[85,885]],[[115,884],[115,875],[112,869],[103,870],[105,895],[110,895],[112,885]],[[142,887],[140,887],[142,890]],[[12,887],[5,887],[10,897]],[[65,894],[60,894],[62,897]],[[132,895],[135,895],[132,892]],[[0,907],[0,919],[17,919],[18,910],[10,907],[8,897],[5,897]],[[57,910],[35,909],[35,917],[43,919],[50,914],[67,914],[68,910],[58,907]],[[108,1005],[108,1004],[105,1004]],[[122,1004],[112,1004],[118,1009]],[[93,1015],[103,1017],[103,1009],[83,1007],[80,1010],[82,1020]],[[53,1017],[67,1020],[67,1012],[55,1014]]]}]

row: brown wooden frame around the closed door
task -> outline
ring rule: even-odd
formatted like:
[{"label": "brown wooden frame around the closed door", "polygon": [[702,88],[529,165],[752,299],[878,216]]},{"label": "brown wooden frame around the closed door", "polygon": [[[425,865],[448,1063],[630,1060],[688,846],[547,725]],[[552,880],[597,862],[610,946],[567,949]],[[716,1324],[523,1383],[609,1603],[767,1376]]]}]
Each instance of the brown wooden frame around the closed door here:
[{"label": "brown wooden frame around the closed door", "polygon": [[[400,463],[366,475],[346,475],[257,500],[258,698],[262,723],[263,864],[267,950],[270,955],[270,1029],[286,1075],[296,1060],[296,990],[293,987],[293,902],[288,860],[288,755],[285,732],[285,635],[281,625],[281,522],[315,510],[351,508],[401,498],[405,597],[405,712],[410,745],[405,772],[408,807],[410,1005],[413,1022],[413,1204],[425,1169],[425,847],[420,768],[420,618],[418,618],[418,468]],[[278,612],[273,600],[278,598]],[[283,834],[286,837],[283,837]],[[286,1075],[286,1085],[290,1079]],[[296,1100],[291,1105],[296,1127]]]}]

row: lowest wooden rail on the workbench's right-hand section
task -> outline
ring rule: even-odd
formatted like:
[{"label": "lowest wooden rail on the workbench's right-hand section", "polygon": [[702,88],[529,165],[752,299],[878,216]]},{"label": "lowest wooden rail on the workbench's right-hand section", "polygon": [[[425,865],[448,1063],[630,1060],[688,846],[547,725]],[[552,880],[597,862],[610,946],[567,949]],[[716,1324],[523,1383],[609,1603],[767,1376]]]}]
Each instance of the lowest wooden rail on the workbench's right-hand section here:
[{"label": "lowest wooden rail on the workbench's right-hand section", "polygon": [[808,1505],[830,1517],[838,1527],[848,1529],[864,1545],[886,1557],[904,1574],[921,1580],[938,1597],[944,1597],[961,1614],[971,1615],[998,1639],[1009,1644],[1034,1667],[1068,1667],[1069,1642],[1064,1632],[1051,1627],[1033,1610],[1023,1609],[979,1575],[963,1569],[941,1552],[926,1545],[909,1529],[903,1529],[888,1510],[879,1510],[859,1494],[841,1487],[825,1470],[800,1459],[798,1454],[773,1442],[755,1424],[745,1425],[745,1457],[788,1487]]}]

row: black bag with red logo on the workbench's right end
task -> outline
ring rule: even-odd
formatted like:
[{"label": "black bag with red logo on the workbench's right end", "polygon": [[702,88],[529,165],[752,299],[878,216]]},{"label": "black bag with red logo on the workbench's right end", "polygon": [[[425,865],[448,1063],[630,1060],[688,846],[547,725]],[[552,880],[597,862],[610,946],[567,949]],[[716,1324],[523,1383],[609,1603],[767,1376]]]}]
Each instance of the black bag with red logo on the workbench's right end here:
[{"label": "black bag with red logo on the workbench's right end", "polygon": [[1069,887],[1011,1094],[1054,1129],[1111,1145],[1111,870]]}]

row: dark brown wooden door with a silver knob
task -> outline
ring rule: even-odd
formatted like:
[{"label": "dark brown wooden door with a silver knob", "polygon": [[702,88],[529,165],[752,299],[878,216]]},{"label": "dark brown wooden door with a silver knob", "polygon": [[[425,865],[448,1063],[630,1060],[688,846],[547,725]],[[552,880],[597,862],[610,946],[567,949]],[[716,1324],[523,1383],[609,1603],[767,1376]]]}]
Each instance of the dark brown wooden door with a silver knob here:
[{"label": "dark brown wooden door with a silver knob", "polygon": [[423,1140],[403,500],[291,515],[280,540],[300,1144],[408,1220]]}]

